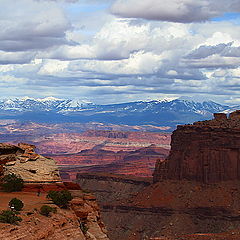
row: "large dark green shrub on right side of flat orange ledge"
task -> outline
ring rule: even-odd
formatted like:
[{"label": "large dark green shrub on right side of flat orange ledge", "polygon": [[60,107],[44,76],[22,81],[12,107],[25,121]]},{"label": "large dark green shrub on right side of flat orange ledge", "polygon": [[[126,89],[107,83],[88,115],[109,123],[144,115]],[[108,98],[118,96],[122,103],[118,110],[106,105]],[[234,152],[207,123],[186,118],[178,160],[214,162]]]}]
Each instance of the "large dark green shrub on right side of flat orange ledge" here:
[{"label": "large dark green shrub on right side of flat orange ledge", "polygon": [[67,208],[69,201],[73,199],[71,193],[67,190],[50,191],[47,198],[52,199],[53,203],[60,208]]}]

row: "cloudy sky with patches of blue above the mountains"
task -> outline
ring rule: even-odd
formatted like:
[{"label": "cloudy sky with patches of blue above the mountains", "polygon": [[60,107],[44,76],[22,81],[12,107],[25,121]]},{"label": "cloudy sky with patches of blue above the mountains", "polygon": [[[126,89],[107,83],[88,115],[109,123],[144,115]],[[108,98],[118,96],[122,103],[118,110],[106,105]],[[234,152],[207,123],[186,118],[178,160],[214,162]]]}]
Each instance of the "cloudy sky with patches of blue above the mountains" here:
[{"label": "cloudy sky with patches of blue above the mountains", "polygon": [[0,0],[0,97],[240,104],[240,0]]}]

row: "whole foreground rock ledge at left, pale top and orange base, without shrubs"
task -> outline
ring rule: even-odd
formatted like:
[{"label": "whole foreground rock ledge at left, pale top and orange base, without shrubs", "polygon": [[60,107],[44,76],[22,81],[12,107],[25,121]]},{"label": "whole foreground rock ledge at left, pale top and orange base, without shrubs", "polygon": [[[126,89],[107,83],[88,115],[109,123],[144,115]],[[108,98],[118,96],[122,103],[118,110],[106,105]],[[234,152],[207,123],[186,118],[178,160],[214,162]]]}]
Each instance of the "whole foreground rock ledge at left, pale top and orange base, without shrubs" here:
[{"label": "whole foreground rock ledge at left, pale top and orange base, without shrubs", "polygon": [[[0,211],[8,208],[12,198],[24,202],[19,225],[0,223],[0,239],[109,240],[96,198],[75,183],[63,183],[55,161],[34,150],[34,145],[25,143],[0,143],[0,180],[9,173],[24,180],[21,192],[5,193],[0,189]],[[73,199],[69,209],[60,209],[47,199],[50,190],[70,191]],[[46,204],[57,207],[57,212],[50,217],[41,215],[39,209]]]}]

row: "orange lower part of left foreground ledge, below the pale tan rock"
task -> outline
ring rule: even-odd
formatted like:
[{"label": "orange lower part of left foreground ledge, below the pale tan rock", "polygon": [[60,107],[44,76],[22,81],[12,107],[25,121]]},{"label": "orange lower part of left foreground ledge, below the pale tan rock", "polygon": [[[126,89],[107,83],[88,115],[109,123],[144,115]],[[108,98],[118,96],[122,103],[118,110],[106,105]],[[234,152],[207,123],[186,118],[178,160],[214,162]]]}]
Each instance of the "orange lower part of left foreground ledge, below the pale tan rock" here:
[{"label": "orange lower part of left foreground ledge, below the pale tan rock", "polygon": [[[68,184],[69,187],[69,184]],[[74,187],[75,186],[70,186]],[[36,197],[35,193],[21,192],[17,197],[24,201],[23,211],[19,212],[22,221],[18,225],[0,223],[0,239],[4,240],[109,240],[100,218],[96,198],[81,190],[69,190],[73,195],[69,209],[60,209],[49,217],[39,213],[43,204],[51,204],[45,193]],[[14,196],[0,193],[3,205]],[[52,204],[50,205],[52,206]]]}]

